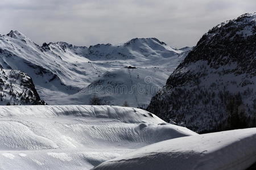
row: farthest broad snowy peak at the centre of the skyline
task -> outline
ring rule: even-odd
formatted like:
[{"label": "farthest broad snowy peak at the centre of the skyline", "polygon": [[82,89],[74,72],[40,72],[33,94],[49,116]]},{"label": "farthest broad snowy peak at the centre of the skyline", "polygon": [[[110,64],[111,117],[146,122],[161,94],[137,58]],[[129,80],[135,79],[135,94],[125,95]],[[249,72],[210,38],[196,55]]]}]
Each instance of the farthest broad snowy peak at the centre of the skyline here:
[{"label": "farthest broad snowy peak at the centre of the skyline", "polygon": [[86,58],[92,60],[106,59],[148,59],[166,58],[182,53],[155,38],[132,39],[124,44],[97,44],[89,46]]}]

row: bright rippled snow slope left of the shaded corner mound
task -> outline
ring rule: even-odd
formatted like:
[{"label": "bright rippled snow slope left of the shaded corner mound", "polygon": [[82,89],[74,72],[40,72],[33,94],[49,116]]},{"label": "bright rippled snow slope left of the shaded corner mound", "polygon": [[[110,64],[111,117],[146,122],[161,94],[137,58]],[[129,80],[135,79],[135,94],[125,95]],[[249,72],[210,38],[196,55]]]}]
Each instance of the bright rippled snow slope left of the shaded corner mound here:
[{"label": "bright rippled snow slope left of the shaded corner mound", "polygon": [[1,169],[90,169],[137,148],[198,135],[142,109],[0,106]]}]

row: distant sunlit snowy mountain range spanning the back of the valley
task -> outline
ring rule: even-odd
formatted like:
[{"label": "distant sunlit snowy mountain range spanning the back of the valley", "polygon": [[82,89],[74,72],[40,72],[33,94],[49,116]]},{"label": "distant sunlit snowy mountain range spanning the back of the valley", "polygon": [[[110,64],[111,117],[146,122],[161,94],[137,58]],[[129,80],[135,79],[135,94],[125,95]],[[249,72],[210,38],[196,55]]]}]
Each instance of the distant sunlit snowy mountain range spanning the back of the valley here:
[{"label": "distant sunlit snowy mountain range spanning the back of the valley", "polygon": [[[143,81],[148,72],[154,82],[149,86],[163,87],[168,76],[191,50],[174,49],[155,38],[133,39],[119,45],[98,44],[89,48],[66,42],[39,46],[18,31],[1,35],[0,49],[0,66],[28,74],[40,97],[48,104],[89,104],[92,93],[88,94],[84,89],[89,84],[93,89],[105,86],[99,81],[106,82],[106,74],[115,74],[119,78],[108,77],[107,84],[125,82],[123,85],[129,89],[138,85],[137,82],[148,86]],[[133,69],[134,75],[131,75],[129,66],[137,68]],[[98,86],[94,87],[95,84]],[[120,94],[102,90],[94,93],[110,104],[119,105],[125,99],[134,107],[148,105],[154,96],[147,94],[139,98],[138,94],[126,94],[118,100]]]}]

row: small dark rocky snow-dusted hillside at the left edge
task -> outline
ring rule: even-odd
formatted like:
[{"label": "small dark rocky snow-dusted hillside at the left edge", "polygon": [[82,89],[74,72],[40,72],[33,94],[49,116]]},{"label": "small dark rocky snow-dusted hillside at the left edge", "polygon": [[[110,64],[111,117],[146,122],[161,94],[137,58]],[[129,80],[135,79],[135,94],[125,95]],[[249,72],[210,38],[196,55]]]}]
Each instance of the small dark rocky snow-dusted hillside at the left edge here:
[{"label": "small dark rocky snow-dusted hillside at the left edge", "polygon": [[21,71],[0,69],[0,105],[44,104],[32,79]]}]

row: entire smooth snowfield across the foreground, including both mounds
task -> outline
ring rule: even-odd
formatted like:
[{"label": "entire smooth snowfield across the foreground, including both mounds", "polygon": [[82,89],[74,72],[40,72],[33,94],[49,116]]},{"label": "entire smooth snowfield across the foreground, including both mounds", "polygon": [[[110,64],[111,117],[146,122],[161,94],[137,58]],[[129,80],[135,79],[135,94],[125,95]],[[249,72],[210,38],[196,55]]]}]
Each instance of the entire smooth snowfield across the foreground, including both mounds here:
[{"label": "entire smooth snowfield across the foreground, including both mounds", "polygon": [[1,169],[245,169],[256,128],[199,135],[108,105],[0,106]]}]

